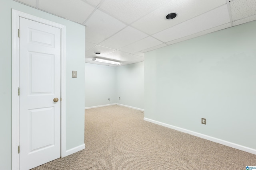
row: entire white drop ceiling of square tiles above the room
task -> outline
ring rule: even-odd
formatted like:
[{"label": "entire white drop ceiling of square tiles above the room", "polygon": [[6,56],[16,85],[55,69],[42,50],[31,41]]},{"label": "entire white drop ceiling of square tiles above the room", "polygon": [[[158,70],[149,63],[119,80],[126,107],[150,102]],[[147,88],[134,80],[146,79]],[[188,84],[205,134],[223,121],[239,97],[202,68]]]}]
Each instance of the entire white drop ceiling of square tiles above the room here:
[{"label": "entire white drop ceiling of square tiles above the room", "polygon": [[256,0],[15,1],[85,25],[85,62],[109,66],[118,65],[92,59],[138,63],[147,51],[256,20]]}]

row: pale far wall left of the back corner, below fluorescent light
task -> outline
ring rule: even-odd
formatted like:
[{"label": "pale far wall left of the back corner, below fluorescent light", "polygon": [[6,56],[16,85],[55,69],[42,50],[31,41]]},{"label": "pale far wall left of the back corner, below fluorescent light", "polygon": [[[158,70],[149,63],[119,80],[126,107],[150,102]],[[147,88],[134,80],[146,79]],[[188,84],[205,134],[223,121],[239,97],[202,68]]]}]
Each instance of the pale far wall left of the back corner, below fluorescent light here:
[{"label": "pale far wall left of the back corner, below fluorescent light", "polygon": [[85,63],[85,107],[116,101],[116,67]]}]

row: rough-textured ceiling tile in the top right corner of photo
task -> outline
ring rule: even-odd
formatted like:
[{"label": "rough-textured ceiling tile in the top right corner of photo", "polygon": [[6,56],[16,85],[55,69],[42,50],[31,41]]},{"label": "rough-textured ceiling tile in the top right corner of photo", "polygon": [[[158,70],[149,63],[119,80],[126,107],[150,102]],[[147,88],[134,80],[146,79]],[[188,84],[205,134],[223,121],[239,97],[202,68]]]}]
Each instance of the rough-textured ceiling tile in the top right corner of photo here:
[{"label": "rough-textured ceiling tile in the top right corner of photo", "polygon": [[256,0],[233,0],[230,2],[233,21],[256,14]]}]

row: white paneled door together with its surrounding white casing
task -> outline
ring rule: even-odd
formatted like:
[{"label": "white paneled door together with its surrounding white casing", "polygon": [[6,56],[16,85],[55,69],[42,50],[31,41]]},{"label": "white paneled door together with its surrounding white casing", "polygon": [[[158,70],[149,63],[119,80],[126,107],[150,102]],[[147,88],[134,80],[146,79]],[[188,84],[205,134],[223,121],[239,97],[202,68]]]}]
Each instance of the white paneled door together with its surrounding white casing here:
[{"label": "white paneled door together with its surrounding white casing", "polygon": [[[29,19],[21,18],[20,25],[22,29],[23,22],[30,24],[30,29],[26,33],[20,31],[20,36],[27,34],[28,39],[25,40],[25,44],[28,45],[28,49],[19,46],[20,17]],[[37,30],[35,25],[40,29]],[[55,33],[51,31],[47,33],[46,27],[55,30]],[[56,30],[61,37],[59,42],[54,38]],[[20,41],[24,40],[22,39]],[[58,56],[56,51],[52,50],[56,49],[55,47],[58,49]],[[19,61],[19,50],[26,54],[25,60],[22,58]],[[54,80],[56,77],[58,80]],[[56,84],[52,86],[55,81]],[[25,85],[26,83],[28,86]],[[24,115],[19,115],[19,87],[20,110],[21,113],[25,113]],[[58,98],[59,101],[54,102],[53,98]],[[12,10],[12,170],[19,169],[19,165],[20,169],[32,168],[65,156],[65,107],[65,26]],[[59,120],[56,121],[57,119]],[[19,126],[30,130],[26,132],[22,128],[19,129]],[[20,154],[18,154],[18,145],[20,145]],[[38,155],[40,156],[37,157]],[[42,159],[42,155],[45,155],[43,156],[45,159]],[[29,166],[26,160],[29,160]]]}]

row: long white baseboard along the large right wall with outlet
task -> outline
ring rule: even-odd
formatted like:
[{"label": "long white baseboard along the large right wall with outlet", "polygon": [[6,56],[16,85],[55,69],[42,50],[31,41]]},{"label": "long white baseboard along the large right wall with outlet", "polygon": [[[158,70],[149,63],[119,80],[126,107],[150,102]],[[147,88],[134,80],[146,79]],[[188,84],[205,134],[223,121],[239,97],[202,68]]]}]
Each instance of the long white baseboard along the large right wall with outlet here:
[{"label": "long white baseboard along the large right wall with outlet", "polygon": [[152,119],[148,119],[148,118],[145,118],[145,117],[144,117],[144,120],[145,120],[145,121],[149,121],[149,122],[151,122],[151,123],[155,123],[155,124],[157,124],[157,125],[161,125],[161,126],[164,126],[164,127],[168,127],[168,128],[170,128],[170,129],[174,129],[174,130],[177,130],[177,131],[180,131],[180,132],[188,133],[188,134],[194,135],[194,136],[196,136],[196,137],[200,137],[200,138],[203,138],[203,139],[207,139],[208,141],[220,143],[220,144],[226,145],[226,146],[228,146],[228,147],[232,147],[232,148],[235,148],[235,149],[243,150],[243,151],[245,151],[245,152],[249,152],[249,153],[252,153],[252,154],[256,154],[256,149],[244,147],[244,146],[238,145],[238,144],[236,144],[236,143],[231,143],[231,142],[228,142],[228,141],[224,141],[224,140],[222,140],[222,139],[218,139],[218,138],[215,138],[215,137],[211,137],[211,136],[208,136],[208,135],[204,135],[204,134],[202,134],[202,133],[197,133],[197,132],[194,132],[194,131],[190,131],[190,130],[187,130],[187,129],[183,129],[183,128],[176,127],[176,126],[173,126],[173,125],[168,125],[168,124],[166,124],[166,123],[162,123],[162,122],[155,121],[155,120],[152,120]]}]

